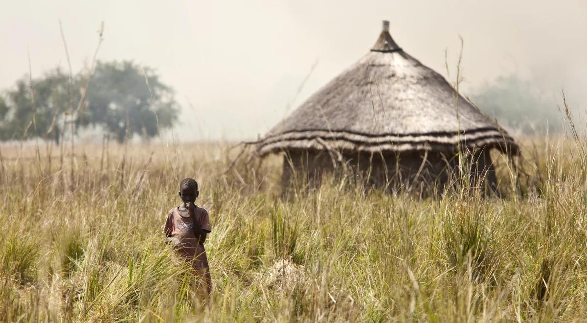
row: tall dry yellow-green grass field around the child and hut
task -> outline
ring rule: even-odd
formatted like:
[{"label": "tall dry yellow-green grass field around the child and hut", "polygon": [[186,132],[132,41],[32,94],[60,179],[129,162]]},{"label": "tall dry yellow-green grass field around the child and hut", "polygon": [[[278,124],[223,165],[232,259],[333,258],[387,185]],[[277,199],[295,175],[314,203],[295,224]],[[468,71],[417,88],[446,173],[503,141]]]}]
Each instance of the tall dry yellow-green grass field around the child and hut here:
[{"label": "tall dry yellow-green grass field around the child and hut", "polygon": [[[281,159],[225,144],[0,146],[0,321],[582,321],[587,146],[528,139],[504,197],[419,200],[326,179],[279,191]],[[50,156],[50,157],[49,157]],[[160,233],[200,181],[214,292],[194,302]]]}]

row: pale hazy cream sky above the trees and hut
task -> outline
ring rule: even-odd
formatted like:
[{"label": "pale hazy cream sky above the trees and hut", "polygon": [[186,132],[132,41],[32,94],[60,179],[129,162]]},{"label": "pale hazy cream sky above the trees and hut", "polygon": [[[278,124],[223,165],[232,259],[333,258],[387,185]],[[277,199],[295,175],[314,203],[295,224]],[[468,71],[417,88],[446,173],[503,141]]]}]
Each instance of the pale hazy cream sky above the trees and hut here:
[{"label": "pale hazy cream sky above the trees and hut", "polygon": [[[464,89],[515,73],[573,106],[587,104],[587,1],[7,1],[0,11],[0,88],[56,65],[98,58],[156,68],[177,90],[194,140],[251,139],[369,51],[390,21],[410,55],[445,77],[464,38]],[[298,88],[317,62],[302,92]],[[451,73],[450,78],[454,78]],[[188,102],[191,102],[193,109]],[[290,109],[290,111],[291,111]],[[195,125],[195,126],[191,126]]]}]

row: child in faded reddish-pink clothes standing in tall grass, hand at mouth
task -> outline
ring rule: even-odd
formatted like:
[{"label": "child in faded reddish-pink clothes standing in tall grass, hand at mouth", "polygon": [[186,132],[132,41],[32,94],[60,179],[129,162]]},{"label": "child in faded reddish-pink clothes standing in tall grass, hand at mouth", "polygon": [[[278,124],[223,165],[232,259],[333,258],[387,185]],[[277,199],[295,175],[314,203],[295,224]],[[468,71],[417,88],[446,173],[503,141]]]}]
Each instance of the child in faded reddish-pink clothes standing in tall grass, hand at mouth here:
[{"label": "child in faded reddish-pink clothes standing in tall grass, hand at mouth", "polygon": [[[189,178],[181,181],[180,197],[183,204],[169,211],[163,233],[166,234],[165,242],[173,244],[177,255],[192,265],[203,283],[200,287],[204,287],[206,295],[210,295],[212,279],[204,242],[212,229],[208,211],[194,204],[199,194],[197,181]],[[201,289],[198,288],[198,291]]]}]

